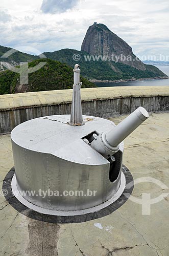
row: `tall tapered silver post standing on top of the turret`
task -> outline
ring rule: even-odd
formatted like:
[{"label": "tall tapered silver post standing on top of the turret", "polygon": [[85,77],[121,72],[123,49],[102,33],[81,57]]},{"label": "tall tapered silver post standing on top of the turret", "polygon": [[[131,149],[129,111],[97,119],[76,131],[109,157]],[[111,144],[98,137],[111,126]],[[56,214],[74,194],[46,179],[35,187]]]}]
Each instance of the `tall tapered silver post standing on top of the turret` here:
[{"label": "tall tapered silver post standing on top of the turret", "polygon": [[81,102],[81,89],[82,82],[80,82],[80,66],[75,65],[74,69],[74,86],[73,86],[73,100],[71,103],[70,125],[80,126],[85,124],[82,116],[82,102]]}]

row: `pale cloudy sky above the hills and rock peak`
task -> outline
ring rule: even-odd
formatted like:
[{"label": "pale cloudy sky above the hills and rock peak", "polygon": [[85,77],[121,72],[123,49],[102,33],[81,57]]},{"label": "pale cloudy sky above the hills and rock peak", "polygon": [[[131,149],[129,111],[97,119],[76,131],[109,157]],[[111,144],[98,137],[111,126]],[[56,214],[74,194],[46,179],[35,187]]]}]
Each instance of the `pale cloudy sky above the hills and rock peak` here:
[{"label": "pale cloudy sky above the hills and rock peak", "polygon": [[80,50],[86,30],[98,22],[138,56],[167,58],[168,17],[168,0],[1,0],[0,45],[25,52]]}]

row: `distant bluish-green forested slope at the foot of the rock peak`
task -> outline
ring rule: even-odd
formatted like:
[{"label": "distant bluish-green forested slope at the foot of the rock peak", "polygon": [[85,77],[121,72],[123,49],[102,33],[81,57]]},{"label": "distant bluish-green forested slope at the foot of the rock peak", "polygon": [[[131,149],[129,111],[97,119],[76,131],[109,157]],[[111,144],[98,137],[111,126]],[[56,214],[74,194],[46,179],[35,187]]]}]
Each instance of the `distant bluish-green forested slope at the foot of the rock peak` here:
[{"label": "distant bluish-green forested slope at the foot of the rock peak", "polygon": [[[75,54],[79,54],[81,59],[75,61],[73,59]],[[132,77],[137,79],[166,77],[162,71],[151,65],[145,65],[146,70],[141,71],[128,65],[124,65],[123,63],[115,63],[114,61],[93,61],[92,59],[90,61],[86,61],[84,56],[89,56],[88,53],[72,49],[63,49],[53,53],[46,52],[44,55],[47,58],[66,63],[72,68],[76,63],[79,63],[81,66],[81,74],[87,79],[119,80],[131,79]]]}]

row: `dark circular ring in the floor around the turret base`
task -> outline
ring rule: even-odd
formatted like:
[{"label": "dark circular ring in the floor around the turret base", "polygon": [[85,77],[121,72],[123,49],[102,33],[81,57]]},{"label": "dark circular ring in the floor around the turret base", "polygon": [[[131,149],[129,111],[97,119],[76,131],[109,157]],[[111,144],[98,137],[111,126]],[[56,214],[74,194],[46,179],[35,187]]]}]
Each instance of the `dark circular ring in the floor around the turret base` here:
[{"label": "dark circular ring in the floor around the turret base", "polygon": [[[9,173],[6,175],[4,183],[3,183],[3,189],[7,189],[8,194],[5,196],[6,200],[15,208],[18,212],[21,214],[28,216],[29,218],[39,220],[39,221],[45,221],[45,222],[50,222],[50,223],[80,223],[80,222],[86,222],[98,218],[102,218],[104,216],[107,216],[111,214],[113,211],[117,210],[120,206],[122,206],[128,198],[125,196],[125,194],[130,194],[132,193],[133,187],[134,187],[134,182],[133,186],[130,187],[130,189],[124,189],[123,185],[126,180],[126,185],[129,184],[130,182],[133,181],[133,177],[130,173],[130,170],[123,165],[123,184],[121,189],[123,188],[124,191],[119,191],[119,198],[112,202],[108,202],[108,205],[106,203],[104,204],[104,207],[96,206],[93,208],[90,208],[89,210],[85,210],[86,212],[78,211],[76,214],[74,212],[69,212],[68,216],[63,216],[63,215],[52,215],[52,212],[50,214],[42,214],[39,213],[33,209],[28,208],[27,206],[23,205],[21,202],[19,202],[16,197],[12,193],[12,179],[15,177],[15,169],[14,167],[9,171]],[[13,179],[13,185],[15,183],[15,178]],[[120,195],[121,194],[121,195]],[[114,197],[113,197],[114,198]],[[114,202],[113,202],[114,201]],[[28,202],[28,201],[27,201]],[[29,202],[28,202],[29,203]],[[36,207],[36,206],[35,206]],[[97,208],[98,207],[98,208]],[[38,207],[39,208],[39,207]],[[95,209],[94,209],[95,208]],[[88,212],[89,211],[89,212]],[[92,212],[91,212],[92,211]],[[55,212],[56,214],[56,212]]]}]

